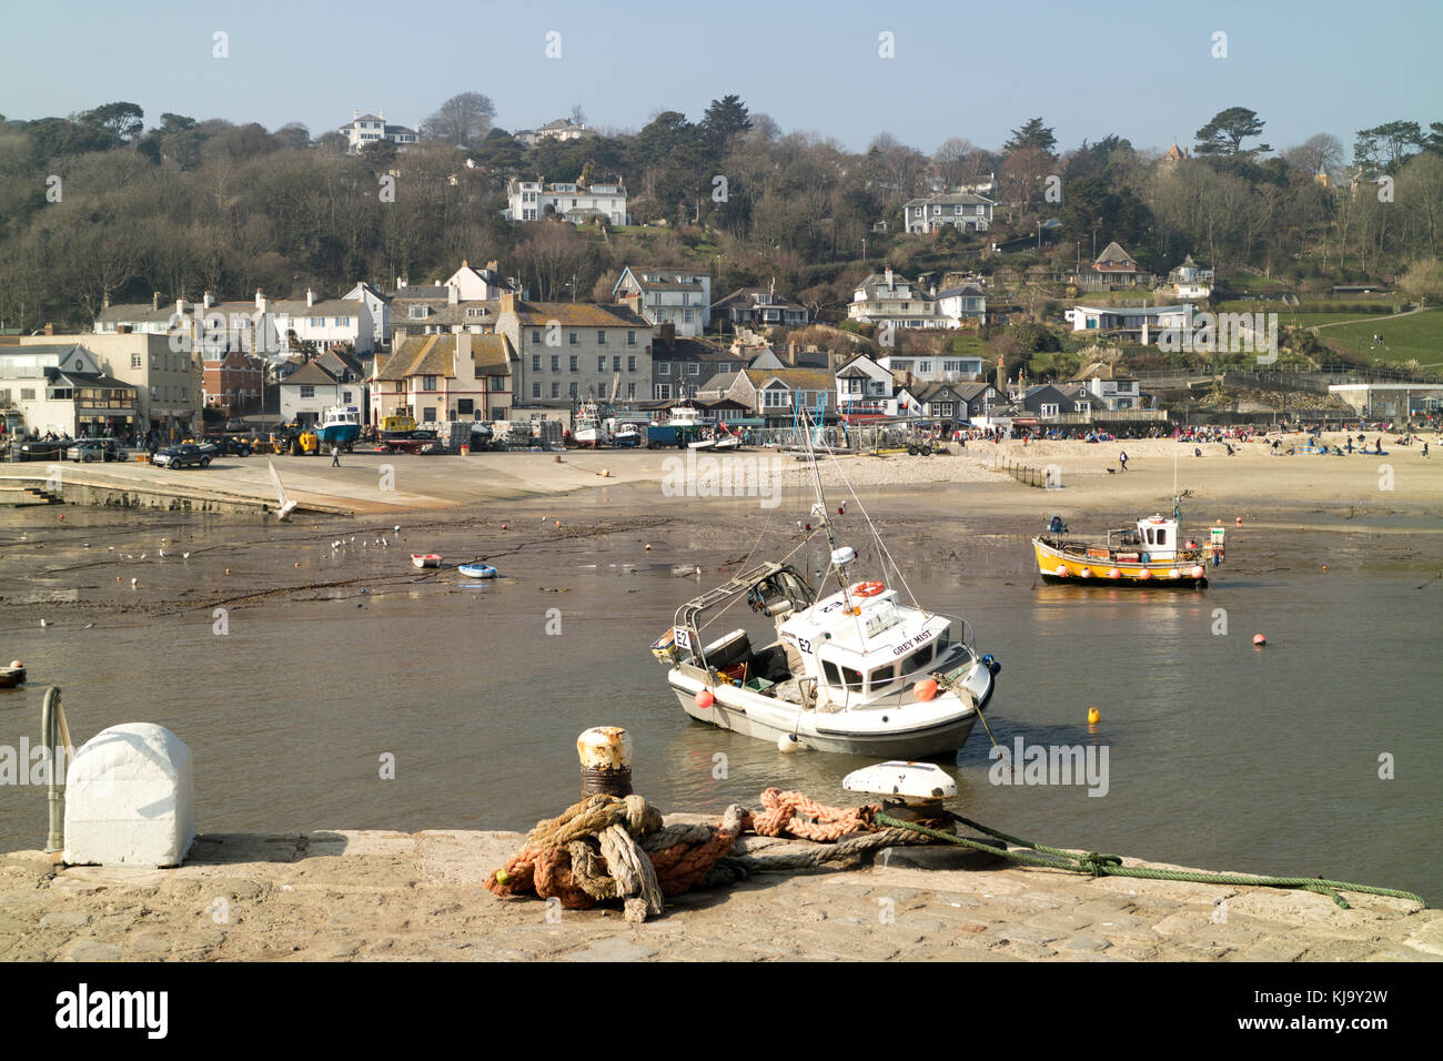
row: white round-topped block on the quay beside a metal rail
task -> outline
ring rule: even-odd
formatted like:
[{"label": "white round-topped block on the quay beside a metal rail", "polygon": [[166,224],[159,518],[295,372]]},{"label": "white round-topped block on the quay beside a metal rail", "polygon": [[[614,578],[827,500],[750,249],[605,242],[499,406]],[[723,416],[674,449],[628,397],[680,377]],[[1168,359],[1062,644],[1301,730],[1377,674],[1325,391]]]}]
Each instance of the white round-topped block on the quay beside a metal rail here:
[{"label": "white round-topped block on the quay beside a metal rail", "polygon": [[195,839],[190,749],[165,726],[102,729],[65,771],[65,862],[179,866]]}]

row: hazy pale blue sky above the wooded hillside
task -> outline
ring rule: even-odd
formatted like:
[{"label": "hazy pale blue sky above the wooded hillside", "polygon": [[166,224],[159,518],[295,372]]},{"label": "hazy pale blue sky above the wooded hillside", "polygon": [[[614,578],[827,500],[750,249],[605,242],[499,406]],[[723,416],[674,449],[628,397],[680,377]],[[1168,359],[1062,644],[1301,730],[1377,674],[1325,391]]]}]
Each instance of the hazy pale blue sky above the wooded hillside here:
[{"label": "hazy pale blue sky above the wooded hillside", "polygon": [[[860,150],[879,131],[931,153],[961,136],[999,147],[1033,115],[1059,144],[1118,133],[1166,147],[1225,107],[1251,107],[1276,149],[1313,133],[1443,120],[1443,0],[1156,0],[983,6],[971,0],[615,0],[613,3],[6,1],[0,114],[101,102],[195,118],[302,121],[312,136],[385,110],[416,126],[485,92],[525,128],[580,102],[593,126],[696,120],[736,92],[786,131]],[[212,35],[229,58],[212,58]],[[561,56],[545,56],[545,35]],[[1228,58],[1212,58],[1212,35]],[[895,35],[896,58],[879,56]]]}]

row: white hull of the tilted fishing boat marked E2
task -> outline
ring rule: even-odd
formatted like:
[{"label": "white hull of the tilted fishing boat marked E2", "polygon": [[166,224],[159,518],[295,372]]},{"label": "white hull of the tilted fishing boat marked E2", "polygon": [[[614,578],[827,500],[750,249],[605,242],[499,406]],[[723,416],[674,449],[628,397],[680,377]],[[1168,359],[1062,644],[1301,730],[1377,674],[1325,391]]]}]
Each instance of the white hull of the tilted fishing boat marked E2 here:
[{"label": "white hull of the tilted fishing boat marked E2", "polygon": [[[818,752],[885,759],[947,755],[967,742],[977,722],[977,709],[952,694],[925,704],[828,713],[737,686],[716,686],[710,687],[711,706],[701,707],[697,693],[709,686],[681,670],[672,670],[668,681],[681,707],[698,722],[772,743],[792,735],[802,748]],[[986,707],[993,690],[991,671],[978,664],[964,684],[977,704]]]}]

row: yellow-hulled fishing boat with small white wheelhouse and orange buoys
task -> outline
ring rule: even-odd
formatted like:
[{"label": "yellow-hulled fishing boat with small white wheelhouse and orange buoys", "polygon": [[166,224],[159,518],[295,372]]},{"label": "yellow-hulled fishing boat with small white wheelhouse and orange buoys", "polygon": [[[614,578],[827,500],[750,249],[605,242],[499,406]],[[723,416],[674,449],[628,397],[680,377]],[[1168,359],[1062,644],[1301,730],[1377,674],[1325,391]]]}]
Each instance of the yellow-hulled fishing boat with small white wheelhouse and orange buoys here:
[{"label": "yellow-hulled fishing boat with small white wheelhouse and orange buoys", "polygon": [[1208,585],[1209,560],[1222,563],[1224,530],[1212,527],[1206,541],[1182,538],[1177,518],[1149,515],[1136,527],[1107,533],[1107,543],[1078,541],[1068,536],[1062,517],[1053,515],[1045,534],[1032,540],[1038,573],[1052,582],[1091,582],[1124,586]]}]

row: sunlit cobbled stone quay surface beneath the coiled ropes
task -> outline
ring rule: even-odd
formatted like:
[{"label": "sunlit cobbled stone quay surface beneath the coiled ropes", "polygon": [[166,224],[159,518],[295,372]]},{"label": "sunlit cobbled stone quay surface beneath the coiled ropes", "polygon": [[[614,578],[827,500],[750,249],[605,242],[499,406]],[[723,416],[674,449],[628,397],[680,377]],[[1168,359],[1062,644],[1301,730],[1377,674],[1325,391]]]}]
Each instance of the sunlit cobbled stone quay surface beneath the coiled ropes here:
[{"label": "sunlit cobbled stone quay surface beneath the coiled ropes", "polygon": [[[687,820],[703,818],[668,816]],[[619,909],[548,909],[486,892],[486,875],[521,840],[208,834],[176,869],[61,866],[14,852],[0,856],[0,961],[1443,959],[1443,912],[1416,902],[1348,894],[1352,909],[1341,909],[1310,892],[1092,879],[952,847],[763,873],[629,924]]]}]

